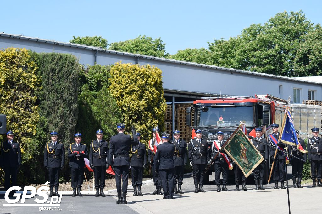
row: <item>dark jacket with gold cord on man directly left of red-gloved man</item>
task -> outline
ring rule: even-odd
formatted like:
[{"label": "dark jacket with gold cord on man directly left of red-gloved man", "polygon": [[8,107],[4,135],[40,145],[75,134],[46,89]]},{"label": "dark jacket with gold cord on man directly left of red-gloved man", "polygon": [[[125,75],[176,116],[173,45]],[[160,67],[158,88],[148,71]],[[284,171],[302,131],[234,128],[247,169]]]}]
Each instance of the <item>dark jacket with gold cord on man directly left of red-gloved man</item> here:
[{"label": "dark jacket with gold cord on man directly left of red-gloved man", "polygon": [[54,146],[52,141],[46,143],[43,162],[45,167],[63,167],[65,164],[64,145],[61,142],[56,142],[56,145]]}]

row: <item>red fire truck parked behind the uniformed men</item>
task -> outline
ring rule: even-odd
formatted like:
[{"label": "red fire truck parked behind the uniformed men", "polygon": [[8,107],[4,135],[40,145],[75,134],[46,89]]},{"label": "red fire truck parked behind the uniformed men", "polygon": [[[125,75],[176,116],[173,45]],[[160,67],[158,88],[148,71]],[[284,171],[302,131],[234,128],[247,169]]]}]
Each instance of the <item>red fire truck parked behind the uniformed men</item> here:
[{"label": "red fire truck parked behind the uniformed men", "polygon": [[[241,122],[246,125],[247,135],[252,136],[255,136],[256,127],[267,127],[273,123],[281,126],[287,104],[288,101],[268,94],[255,97],[202,97],[187,108],[186,125],[193,128],[192,139],[195,137],[194,131],[200,129],[211,150],[213,141],[217,139],[217,132],[222,131],[224,140],[227,140]],[[208,166],[209,164],[210,162]],[[206,183],[212,172],[214,167],[207,171],[204,180]]]}]

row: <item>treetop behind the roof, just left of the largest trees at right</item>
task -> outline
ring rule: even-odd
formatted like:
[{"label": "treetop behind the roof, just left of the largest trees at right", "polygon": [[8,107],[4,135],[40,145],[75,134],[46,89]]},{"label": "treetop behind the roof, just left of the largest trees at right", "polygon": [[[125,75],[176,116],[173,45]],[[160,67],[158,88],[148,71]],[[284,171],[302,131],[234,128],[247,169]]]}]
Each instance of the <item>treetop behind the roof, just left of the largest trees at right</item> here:
[{"label": "treetop behind the roof, just left of the largest trees at right", "polygon": [[210,51],[203,47],[199,49],[187,48],[185,50],[179,50],[176,54],[169,56],[169,58],[211,65],[210,54]]}]

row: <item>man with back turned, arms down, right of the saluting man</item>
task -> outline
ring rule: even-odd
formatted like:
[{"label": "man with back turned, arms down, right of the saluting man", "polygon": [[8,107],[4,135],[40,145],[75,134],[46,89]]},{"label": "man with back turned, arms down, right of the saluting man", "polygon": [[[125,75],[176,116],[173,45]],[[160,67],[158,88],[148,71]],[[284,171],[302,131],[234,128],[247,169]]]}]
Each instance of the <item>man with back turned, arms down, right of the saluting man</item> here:
[{"label": "man with back turned, arms down, right of the saluting man", "polygon": [[174,176],[174,160],[175,145],[169,143],[170,135],[163,132],[161,134],[162,144],[157,146],[155,165],[156,171],[161,177],[163,199],[173,199],[173,176]]}]

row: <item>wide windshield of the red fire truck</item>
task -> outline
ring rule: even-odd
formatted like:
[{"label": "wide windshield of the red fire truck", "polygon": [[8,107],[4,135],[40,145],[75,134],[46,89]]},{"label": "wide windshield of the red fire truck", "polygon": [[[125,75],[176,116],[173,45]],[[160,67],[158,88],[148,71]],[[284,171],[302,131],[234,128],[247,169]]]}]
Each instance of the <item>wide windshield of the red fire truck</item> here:
[{"label": "wide windshield of the red fire truck", "polygon": [[196,126],[208,128],[235,127],[240,121],[255,127],[254,106],[198,107]]}]

